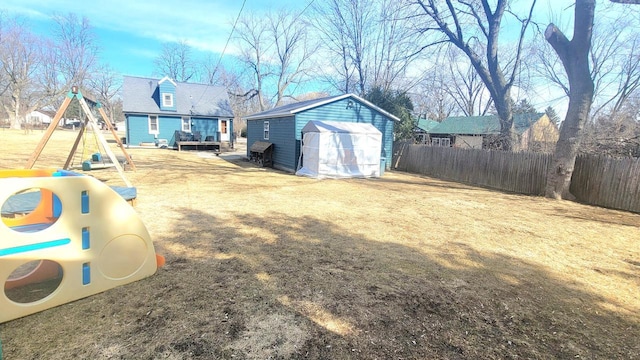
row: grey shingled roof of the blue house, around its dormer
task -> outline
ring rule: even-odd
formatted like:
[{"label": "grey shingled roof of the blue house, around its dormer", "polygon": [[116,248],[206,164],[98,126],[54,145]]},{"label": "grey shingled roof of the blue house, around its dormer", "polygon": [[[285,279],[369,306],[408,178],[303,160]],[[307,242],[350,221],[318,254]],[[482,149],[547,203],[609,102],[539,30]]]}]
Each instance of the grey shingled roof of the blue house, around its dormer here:
[{"label": "grey shingled roof of the blue house, around its dormer", "polygon": [[[176,86],[176,111],[160,110],[158,85],[164,81]],[[124,113],[233,117],[227,89],[222,86],[125,76],[122,96]]]}]

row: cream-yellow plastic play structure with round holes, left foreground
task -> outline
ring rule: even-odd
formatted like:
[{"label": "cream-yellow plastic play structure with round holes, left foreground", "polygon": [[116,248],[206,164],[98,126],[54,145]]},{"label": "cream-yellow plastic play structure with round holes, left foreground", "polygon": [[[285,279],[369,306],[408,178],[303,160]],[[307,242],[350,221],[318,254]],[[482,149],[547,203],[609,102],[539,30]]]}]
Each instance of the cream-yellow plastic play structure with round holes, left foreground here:
[{"label": "cream-yellow plastic play structure with round holes, left foreground", "polygon": [[[25,214],[5,203],[35,199]],[[99,180],[65,170],[0,170],[0,323],[153,275],[134,209]]]}]

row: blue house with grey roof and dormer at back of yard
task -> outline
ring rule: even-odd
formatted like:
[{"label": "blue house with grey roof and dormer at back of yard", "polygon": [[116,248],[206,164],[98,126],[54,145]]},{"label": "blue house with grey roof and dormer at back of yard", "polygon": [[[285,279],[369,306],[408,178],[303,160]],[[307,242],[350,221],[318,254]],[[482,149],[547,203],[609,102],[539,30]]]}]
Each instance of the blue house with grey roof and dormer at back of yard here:
[{"label": "blue house with grey roof and dormer at back of yard", "polygon": [[129,145],[233,142],[233,111],[224,87],[125,76],[122,96]]}]

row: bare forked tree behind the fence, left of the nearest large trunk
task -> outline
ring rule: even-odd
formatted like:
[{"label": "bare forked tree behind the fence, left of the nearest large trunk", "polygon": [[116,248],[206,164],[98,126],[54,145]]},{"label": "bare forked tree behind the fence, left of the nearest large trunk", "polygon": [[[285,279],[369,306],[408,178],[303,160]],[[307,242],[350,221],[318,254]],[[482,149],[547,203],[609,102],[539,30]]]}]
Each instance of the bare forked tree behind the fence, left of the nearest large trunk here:
[{"label": "bare forked tree behind the fence, left of the nearest large trunk", "polygon": [[[522,47],[529,27],[536,0],[531,1],[528,13],[521,17],[508,7],[508,1],[498,0],[492,8],[488,0],[467,2],[452,0],[410,0],[418,7],[424,17],[417,17],[417,30],[422,34],[437,33],[440,37],[424,48],[441,43],[451,43],[459,48],[469,59],[487,90],[491,94],[500,119],[500,138],[498,145],[511,150],[516,143],[511,109],[511,89],[518,77],[521,65]],[[502,18],[511,14],[520,22],[513,57],[499,61],[500,26]],[[478,50],[482,48],[482,51]],[[484,59],[483,59],[484,58]]]}]

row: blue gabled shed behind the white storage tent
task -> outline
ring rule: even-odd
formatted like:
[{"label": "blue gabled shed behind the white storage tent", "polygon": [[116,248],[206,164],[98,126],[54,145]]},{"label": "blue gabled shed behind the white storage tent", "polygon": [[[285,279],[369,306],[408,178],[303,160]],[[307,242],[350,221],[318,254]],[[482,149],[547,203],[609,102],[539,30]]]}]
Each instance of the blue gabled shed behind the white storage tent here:
[{"label": "blue gabled shed behind the white storage tent", "polygon": [[330,96],[288,104],[244,118],[247,122],[247,157],[256,141],[273,144],[273,167],[289,172],[298,169],[302,128],[313,120],[369,123],[382,133],[380,157],[393,154],[396,116],[353,94]]}]

